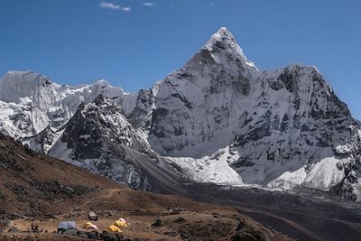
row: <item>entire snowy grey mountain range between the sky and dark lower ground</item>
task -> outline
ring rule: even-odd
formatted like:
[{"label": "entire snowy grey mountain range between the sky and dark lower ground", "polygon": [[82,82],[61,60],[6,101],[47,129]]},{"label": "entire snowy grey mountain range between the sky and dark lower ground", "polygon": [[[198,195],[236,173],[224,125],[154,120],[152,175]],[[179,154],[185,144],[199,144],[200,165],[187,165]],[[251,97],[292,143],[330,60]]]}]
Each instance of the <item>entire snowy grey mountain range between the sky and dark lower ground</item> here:
[{"label": "entire snowy grey mountain range between the sky and dark lower ground", "polygon": [[315,67],[258,70],[226,28],[138,93],[32,72],[10,72],[0,87],[3,132],[135,189],[188,180],[360,197],[361,132],[347,106]]}]

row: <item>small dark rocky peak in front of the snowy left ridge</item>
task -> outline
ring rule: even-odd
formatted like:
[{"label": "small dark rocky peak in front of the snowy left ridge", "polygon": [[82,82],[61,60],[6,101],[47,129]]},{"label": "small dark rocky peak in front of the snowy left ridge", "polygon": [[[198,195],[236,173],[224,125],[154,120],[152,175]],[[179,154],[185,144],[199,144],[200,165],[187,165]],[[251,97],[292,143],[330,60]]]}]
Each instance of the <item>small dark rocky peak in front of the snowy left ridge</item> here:
[{"label": "small dark rocky peak in front of the snowy left ridge", "polygon": [[141,135],[118,104],[100,95],[79,106],[49,154],[134,189],[160,190],[144,165],[162,163]]}]

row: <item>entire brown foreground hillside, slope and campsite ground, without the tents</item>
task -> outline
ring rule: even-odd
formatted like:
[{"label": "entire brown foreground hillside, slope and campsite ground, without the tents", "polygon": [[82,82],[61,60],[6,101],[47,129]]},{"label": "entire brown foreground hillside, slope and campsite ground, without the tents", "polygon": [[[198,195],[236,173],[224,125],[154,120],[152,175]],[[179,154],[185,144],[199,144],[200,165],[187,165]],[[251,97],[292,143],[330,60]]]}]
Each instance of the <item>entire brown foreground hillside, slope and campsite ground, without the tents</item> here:
[{"label": "entire brown foreground hillside, slope and campsite ground, without the tents", "polygon": [[[61,220],[82,227],[90,210],[99,216],[94,223],[101,234],[117,218],[130,225],[118,236],[52,233]],[[28,233],[32,222],[43,232]],[[239,210],[125,189],[2,134],[0,231],[2,240],[289,240]]]}]

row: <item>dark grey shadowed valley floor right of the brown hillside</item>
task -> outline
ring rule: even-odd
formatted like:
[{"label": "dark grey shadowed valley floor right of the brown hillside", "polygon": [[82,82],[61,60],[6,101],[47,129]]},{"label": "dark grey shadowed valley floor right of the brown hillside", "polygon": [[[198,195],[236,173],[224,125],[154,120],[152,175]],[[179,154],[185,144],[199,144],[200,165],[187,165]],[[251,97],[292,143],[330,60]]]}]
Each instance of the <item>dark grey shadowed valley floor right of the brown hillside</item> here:
[{"label": "dark grey shadowed valley floor right of the brown hillside", "polygon": [[265,227],[298,240],[353,241],[361,236],[361,204],[309,189],[293,193],[193,184],[192,199],[233,206]]}]

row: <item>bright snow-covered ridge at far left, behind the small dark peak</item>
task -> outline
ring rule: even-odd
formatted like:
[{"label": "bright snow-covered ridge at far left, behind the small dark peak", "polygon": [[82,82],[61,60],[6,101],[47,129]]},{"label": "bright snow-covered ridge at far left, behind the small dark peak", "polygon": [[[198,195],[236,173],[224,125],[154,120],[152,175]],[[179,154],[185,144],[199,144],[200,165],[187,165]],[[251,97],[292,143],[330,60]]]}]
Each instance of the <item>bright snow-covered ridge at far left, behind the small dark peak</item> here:
[{"label": "bright snow-covered ridge at far left, behind the small dark peak", "polygon": [[39,134],[48,125],[58,129],[80,103],[99,94],[121,101],[124,91],[106,80],[73,88],[32,71],[9,71],[0,79],[0,129],[17,138]]}]

